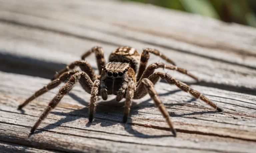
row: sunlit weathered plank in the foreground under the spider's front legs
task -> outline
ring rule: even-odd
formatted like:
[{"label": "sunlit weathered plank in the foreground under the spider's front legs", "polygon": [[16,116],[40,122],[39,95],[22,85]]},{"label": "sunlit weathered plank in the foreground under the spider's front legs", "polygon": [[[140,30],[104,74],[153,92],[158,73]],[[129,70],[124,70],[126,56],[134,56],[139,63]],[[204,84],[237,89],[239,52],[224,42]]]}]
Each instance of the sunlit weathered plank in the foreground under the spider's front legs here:
[{"label": "sunlit weathered plank in the foreground under the spider's front legs", "polygon": [[[159,83],[156,89],[172,116],[178,131],[177,138],[173,138],[170,131],[165,131],[168,126],[148,96],[143,102],[134,103],[132,116],[127,124],[123,124],[121,120],[123,103],[113,100],[99,101],[95,120],[89,124],[86,108],[89,95],[79,86],[75,87],[73,94],[66,96],[40,125],[41,130],[27,138],[30,128],[58,89],[32,102],[22,113],[16,110],[17,106],[49,80],[4,72],[0,74],[0,128],[4,130],[1,132],[1,141],[14,141],[21,145],[33,141],[33,146],[70,152],[87,152],[89,148],[90,151],[130,152],[135,146],[138,149],[132,152],[141,152],[146,148],[148,152],[154,152],[156,149],[161,152],[255,150],[256,96],[193,85],[197,90],[204,89],[211,100],[224,106],[227,111],[216,113],[201,102],[189,102],[191,98],[175,88],[161,88],[165,83]],[[173,94],[170,96],[171,92]],[[184,103],[185,106],[181,106]],[[8,138],[7,135],[12,137]],[[66,139],[65,135],[69,135],[69,138]],[[56,139],[58,142],[55,142]],[[66,143],[70,145],[65,145]],[[115,147],[111,150],[111,146]]]}]

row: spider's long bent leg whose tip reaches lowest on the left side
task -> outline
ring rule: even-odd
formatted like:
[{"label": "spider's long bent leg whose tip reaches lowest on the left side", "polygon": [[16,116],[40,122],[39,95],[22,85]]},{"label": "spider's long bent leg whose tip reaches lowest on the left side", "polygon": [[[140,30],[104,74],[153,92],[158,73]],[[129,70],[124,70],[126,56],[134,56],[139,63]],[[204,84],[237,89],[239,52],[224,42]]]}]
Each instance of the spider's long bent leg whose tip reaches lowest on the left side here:
[{"label": "spider's long bent leg whose tip reaches lowest on the left side", "polygon": [[[80,81],[81,80],[81,81]],[[34,133],[37,127],[40,125],[40,123],[47,117],[47,115],[60,103],[61,99],[67,95],[74,85],[77,82],[83,82],[84,87],[87,87],[88,89],[91,89],[93,87],[93,82],[91,81],[90,77],[83,71],[79,71],[72,75],[72,77],[69,79],[65,85],[60,88],[59,93],[51,100],[51,102],[48,104],[47,108],[44,110],[43,114],[39,117],[35,125],[31,128],[31,133]],[[86,82],[84,82],[86,81]]]}]

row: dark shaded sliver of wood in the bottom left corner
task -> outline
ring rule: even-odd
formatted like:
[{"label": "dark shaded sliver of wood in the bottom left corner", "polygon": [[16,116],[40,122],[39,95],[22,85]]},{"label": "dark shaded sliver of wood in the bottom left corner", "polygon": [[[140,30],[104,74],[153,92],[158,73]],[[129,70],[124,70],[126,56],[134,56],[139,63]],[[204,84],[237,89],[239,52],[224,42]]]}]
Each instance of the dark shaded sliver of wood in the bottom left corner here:
[{"label": "dark shaded sliver of wood in the bottom left corner", "polygon": [[56,151],[41,150],[12,143],[0,142],[0,150],[3,153],[57,153]]}]

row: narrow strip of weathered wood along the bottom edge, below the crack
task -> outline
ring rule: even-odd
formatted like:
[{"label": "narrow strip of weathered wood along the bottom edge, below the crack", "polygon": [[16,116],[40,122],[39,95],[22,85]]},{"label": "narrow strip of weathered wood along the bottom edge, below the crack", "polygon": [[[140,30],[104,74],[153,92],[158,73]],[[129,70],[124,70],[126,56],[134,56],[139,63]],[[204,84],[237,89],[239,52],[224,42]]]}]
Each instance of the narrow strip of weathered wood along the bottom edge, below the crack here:
[{"label": "narrow strip of weathered wood along the bottom edge, below the crack", "polygon": [[[31,136],[28,138],[27,132],[29,128],[24,126],[16,126],[10,124],[0,123],[0,128],[6,130],[6,134],[14,135],[13,137],[8,138],[7,136],[1,137],[7,141],[15,141],[17,143],[28,144],[30,141],[33,141],[33,145],[42,147],[56,149],[65,152],[131,152],[131,149],[134,149],[133,152],[210,152],[215,153],[217,151],[211,151],[209,149],[194,149],[194,148],[180,148],[177,147],[164,147],[164,146],[151,146],[151,145],[138,145],[137,143],[122,143],[115,141],[108,141],[104,138],[95,139],[83,137],[77,134],[64,134],[59,132],[50,132],[44,131],[43,133],[37,134],[37,136]],[[15,131],[9,130],[10,128],[15,128]],[[66,129],[68,130],[68,129]],[[63,129],[65,131],[65,129]],[[68,130],[71,132],[70,130]],[[75,132],[75,131],[74,131]],[[18,134],[17,134],[18,133]],[[80,134],[80,133],[79,133]],[[68,139],[67,139],[68,136]],[[40,141],[39,141],[40,140]]]}]

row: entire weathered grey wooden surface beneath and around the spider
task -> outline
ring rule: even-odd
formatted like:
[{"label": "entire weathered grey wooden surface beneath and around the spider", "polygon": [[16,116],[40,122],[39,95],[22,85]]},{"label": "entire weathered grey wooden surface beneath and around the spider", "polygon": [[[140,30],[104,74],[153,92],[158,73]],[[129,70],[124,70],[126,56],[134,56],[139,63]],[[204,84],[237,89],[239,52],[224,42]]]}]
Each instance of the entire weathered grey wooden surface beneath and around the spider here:
[{"label": "entire weathered grey wooden surface beneath and around the spider", "polygon": [[[104,2],[104,5],[103,5]],[[6,152],[255,152],[256,30],[237,24],[112,0],[0,0],[0,149]],[[17,111],[55,71],[92,46],[105,57],[122,45],[159,49],[199,83],[168,72],[225,109],[216,113],[174,86],[155,87],[178,137],[149,96],[135,101],[127,124],[123,101],[99,101],[88,123],[80,85],[28,137],[58,88]],[[86,59],[96,70],[93,55]],[[162,62],[154,55],[151,62]],[[163,61],[164,62],[164,61]],[[97,70],[96,70],[97,71]],[[62,84],[63,85],[63,84]]]}]

